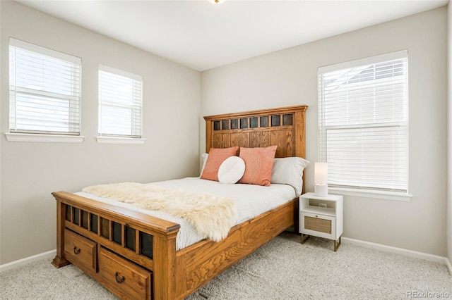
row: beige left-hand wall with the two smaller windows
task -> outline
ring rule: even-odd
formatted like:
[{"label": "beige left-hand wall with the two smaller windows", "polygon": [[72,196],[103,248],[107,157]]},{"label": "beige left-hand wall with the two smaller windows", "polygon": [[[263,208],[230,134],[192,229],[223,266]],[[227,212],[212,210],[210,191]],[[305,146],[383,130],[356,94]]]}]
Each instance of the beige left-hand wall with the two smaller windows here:
[{"label": "beige left-hand wall with the two smaller windows", "polygon": [[[1,1],[1,264],[55,249],[53,191],[198,175],[200,73]],[[82,58],[81,144],[7,142],[8,37]],[[97,144],[97,68],[143,75],[144,145]],[[181,130],[183,129],[183,130]]]}]

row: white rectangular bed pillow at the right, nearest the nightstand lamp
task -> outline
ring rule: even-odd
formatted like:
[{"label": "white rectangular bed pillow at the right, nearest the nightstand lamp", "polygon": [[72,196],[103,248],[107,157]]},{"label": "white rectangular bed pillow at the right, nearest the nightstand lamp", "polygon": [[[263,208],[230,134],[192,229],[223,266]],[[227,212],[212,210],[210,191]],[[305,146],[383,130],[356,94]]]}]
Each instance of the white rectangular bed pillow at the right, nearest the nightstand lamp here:
[{"label": "white rectangular bed pillow at the right, nearest the nightstand lamp", "polygon": [[270,182],[291,185],[299,196],[303,189],[303,170],[308,165],[309,161],[301,157],[275,158]]}]

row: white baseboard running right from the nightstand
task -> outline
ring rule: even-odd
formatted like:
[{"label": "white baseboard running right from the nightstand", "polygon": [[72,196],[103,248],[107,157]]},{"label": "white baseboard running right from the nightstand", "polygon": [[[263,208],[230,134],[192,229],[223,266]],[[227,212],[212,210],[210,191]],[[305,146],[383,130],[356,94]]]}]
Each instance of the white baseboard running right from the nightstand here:
[{"label": "white baseboard running right from the nightstand", "polygon": [[381,250],[381,251],[391,252],[394,254],[410,256],[410,257],[414,257],[414,258],[420,258],[420,259],[424,259],[426,261],[433,261],[435,263],[444,263],[445,265],[447,265],[449,272],[452,275],[451,263],[444,256],[438,256],[438,255],[428,254],[428,253],[424,253],[424,252],[412,251],[412,250],[397,248],[397,247],[393,247],[393,246],[386,246],[383,244],[365,242],[365,241],[362,241],[359,239],[350,239],[349,237],[342,237],[342,242],[344,244],[355,244],[357,246],[362,246],[362,247],[366,247],[366,248],[377,249],[377,250]]}]

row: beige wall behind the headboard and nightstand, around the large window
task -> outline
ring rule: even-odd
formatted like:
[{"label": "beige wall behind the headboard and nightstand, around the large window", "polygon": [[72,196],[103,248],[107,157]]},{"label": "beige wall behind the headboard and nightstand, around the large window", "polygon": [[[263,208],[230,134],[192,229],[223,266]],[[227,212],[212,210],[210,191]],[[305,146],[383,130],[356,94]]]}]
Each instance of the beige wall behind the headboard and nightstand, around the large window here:
[{"label": "beige wall behind the headboard and nightstand, around the large window", "polygon": [[[317,160],[317,68],[408,49],[411,201],[345,197],[344,236],[446,256],[446,7],[201,73],[201,115],[307,104]],[[308,30],[308,29],[307,29]],[[203,151],[205,129],[200,128]],[[449,242],[450,244],[450,242]]]}]

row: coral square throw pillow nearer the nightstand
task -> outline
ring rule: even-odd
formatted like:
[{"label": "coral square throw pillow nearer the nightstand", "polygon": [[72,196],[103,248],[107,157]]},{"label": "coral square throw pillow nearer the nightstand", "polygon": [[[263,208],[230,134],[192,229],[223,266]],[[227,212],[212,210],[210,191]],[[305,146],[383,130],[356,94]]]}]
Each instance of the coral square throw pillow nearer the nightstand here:
[{"label": "coral square throw pillow nearer the nightstand", "polygon": [[277,147],[240,148],[240,158],[245,161],[245,173],[238,183],[268,187]]}]

